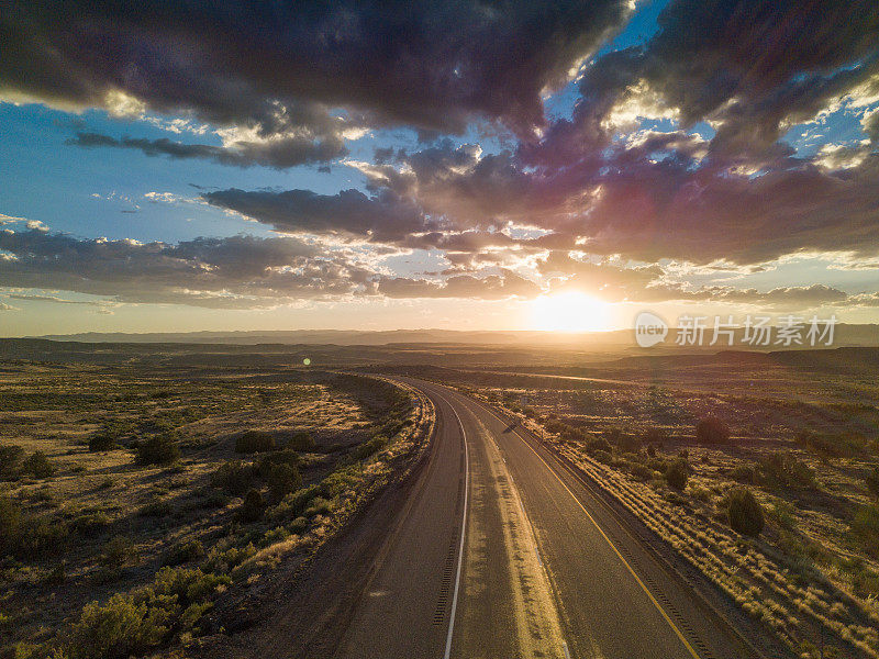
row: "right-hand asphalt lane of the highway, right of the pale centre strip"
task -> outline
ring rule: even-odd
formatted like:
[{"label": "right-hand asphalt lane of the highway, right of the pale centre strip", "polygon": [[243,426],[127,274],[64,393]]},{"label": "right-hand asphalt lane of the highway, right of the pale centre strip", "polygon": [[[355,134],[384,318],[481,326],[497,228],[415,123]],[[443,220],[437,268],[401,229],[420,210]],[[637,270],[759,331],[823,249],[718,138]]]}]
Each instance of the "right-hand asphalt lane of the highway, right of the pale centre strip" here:
[{"label": "right-hand asphalt lane of the highway, right of the pale centre strip", "polygon": [[[519,493],[524,516],[534,529],[571,656],[750,656],[748,648],[706,615],[683,584],[669,578],[605,506],[570,473],[553,465],[546,449],[533,447],[518,429],[509,428],[507,422],[466,395],[435,384],[418,386],[429,395],[443,395],[465,426],[481,426],[482,432],[472,433],[470,440],[474,454],[497,447],[510,485]],[[502,487],[499,481],[499,499]],[[466,591],[464,597],[466,601]],[[468,630],[468,621],[461,621],[461,634]],[[552,654],[556,648],[549,644],[542,649]]]}]

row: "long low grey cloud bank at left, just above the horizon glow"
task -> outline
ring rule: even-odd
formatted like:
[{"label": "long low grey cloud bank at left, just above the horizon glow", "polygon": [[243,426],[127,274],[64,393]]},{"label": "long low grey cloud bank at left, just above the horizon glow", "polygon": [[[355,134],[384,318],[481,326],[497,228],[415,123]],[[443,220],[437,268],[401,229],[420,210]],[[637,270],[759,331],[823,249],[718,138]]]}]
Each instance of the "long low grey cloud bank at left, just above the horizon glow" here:
[{"label": "long low grey cloud bank at left, just above the horizon glow", "polygon": [[271,306],[351,294],[372,272],[293,238],[198,238],[177,245],[0,231],[7,287],[109,295],[120,302]]}]

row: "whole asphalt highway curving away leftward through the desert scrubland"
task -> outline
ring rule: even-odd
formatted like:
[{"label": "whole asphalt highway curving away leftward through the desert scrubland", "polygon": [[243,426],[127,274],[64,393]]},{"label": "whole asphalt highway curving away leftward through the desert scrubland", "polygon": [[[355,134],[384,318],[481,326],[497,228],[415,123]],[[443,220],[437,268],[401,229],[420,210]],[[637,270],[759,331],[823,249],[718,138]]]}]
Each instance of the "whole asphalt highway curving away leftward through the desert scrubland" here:
[{"label": "whole asphalt highway curving away leftward through the desert scrubland", "polygon": [[548,450],[405,381],[437,409],[435,445],[336,657],[752,656]]}]

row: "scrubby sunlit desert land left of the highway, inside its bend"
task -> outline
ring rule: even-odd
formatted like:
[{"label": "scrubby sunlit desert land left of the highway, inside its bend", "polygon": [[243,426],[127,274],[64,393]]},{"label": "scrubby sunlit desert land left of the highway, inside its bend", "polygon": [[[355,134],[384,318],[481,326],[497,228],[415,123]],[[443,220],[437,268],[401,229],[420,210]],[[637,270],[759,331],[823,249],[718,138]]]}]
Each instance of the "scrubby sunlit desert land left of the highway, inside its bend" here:
[{"label": "scrubby sunlit desert land left of the highway, inside its bend", "polygon": [[425,399],[283,369],[0,366],[0,657],[222,633],[427,445]]}]

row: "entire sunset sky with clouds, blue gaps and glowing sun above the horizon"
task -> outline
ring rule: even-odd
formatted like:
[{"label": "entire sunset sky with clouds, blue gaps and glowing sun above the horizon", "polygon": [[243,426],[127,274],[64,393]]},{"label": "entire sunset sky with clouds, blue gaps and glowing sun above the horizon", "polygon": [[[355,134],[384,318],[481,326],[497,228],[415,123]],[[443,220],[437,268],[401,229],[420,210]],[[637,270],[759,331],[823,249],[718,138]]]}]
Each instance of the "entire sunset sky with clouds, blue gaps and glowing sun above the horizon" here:
[{"label": "entire sunset sky with clouds, blue gaps and glowing sun above the horizon", "polygon": [[0,335],[879,322],[879,4],[15,3]]}]

